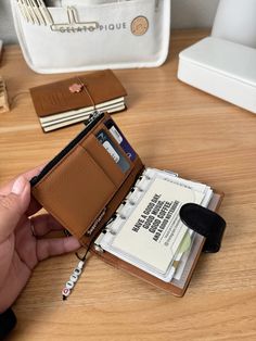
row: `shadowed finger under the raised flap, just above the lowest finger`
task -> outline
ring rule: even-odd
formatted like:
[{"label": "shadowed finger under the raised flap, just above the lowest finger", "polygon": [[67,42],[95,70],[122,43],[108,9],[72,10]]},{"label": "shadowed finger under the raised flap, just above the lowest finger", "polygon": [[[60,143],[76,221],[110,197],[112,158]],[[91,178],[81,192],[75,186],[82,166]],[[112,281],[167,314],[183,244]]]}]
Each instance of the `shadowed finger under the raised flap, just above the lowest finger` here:
[{"label": "shadowed finger under the raised flap, just above the lowest finger", "polygon": [[30,218],[34,227],[34,233],[37,237],[43,237],[50,231],[63,230],[63,226],[57,223],[50,214],[42,214]]}]

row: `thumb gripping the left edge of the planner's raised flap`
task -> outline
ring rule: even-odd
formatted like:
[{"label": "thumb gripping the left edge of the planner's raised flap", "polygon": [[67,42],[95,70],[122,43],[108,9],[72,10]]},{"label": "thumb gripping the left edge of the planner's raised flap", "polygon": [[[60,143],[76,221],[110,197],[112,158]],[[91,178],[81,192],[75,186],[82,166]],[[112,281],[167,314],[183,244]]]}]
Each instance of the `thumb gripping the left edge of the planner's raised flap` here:
[{"label": "thumb gripping the left edge of the planner's raised flap", "polygon": [[0,198],[0,242],[14,231],[29,202],[30,184],[21,176],[14,181],[11,193]]}]

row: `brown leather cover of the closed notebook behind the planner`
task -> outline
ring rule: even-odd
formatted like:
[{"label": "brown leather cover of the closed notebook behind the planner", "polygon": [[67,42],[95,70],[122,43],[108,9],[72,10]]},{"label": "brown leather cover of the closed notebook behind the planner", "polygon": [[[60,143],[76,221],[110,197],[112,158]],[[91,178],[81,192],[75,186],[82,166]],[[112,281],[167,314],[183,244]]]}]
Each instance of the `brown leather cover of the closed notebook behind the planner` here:
[{"label": "brown leather cover of the closed notebook behind the planner", "polygon": [[[82,90],[77,93],[69,91],[72,85],[81,83],[87,91]],[[93,103],[104,103],[125,97],[127,93],[114,73],[106,70],[35,87],[30,89],[30,94],[37,115],[46,117],[92,106]]]}]

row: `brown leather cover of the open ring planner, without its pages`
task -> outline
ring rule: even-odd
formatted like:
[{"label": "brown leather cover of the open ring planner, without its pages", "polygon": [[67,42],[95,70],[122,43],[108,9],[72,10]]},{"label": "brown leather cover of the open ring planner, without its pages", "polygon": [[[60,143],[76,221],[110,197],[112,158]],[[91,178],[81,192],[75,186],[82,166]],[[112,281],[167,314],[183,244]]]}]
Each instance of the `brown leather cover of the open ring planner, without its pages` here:
[{"label": "brown leather cover of the open ring planner, without its pages", "polygon": [[[34,179],[33,194],[85,247],[111,265],[123,268],[141,279],[165,289],[175,295],[184,294],[205,238],[197,235],[190,258],[180,280],[164,282],[108,252],[94,249],[93,240],[114,216],[133,184],[144,171],[138,154],[127,156],[124,149],[106,128],[108,114],[97,113],[86,128],[59,153]],[[103,148],[99,135],[117,151],[124,164],[114,161],[115,153]],[[112,147],[110,147],[112,149]],[[132,160],[131,160],[132,159]],[[126,165],[124,167],[124,165]],[[215,194],[209,209],[215,211],[222,195]]]}]

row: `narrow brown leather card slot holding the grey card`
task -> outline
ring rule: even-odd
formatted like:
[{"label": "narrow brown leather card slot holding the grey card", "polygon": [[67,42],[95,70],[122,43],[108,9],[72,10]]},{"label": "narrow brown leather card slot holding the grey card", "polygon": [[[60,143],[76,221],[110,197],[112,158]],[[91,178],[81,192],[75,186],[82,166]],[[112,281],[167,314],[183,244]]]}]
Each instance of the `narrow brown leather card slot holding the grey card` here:
[{"label": "narrow brown leather card slot holding the grey card", "polygon": [[[98,131],[100,131],[99,129]],[[94,132],[97,134],[97,131]],[[113,144],[120,151],[119,147],[113,141]],[[97,139],[94,135],[90,135],[85,141],[80,143],[85,150],[89,152],[91,157],[98,163],[98,165],[104,171],[104,173],[110,177],[110,179],[115,184],[116,188],[123,184],[128,174],[132,169],[132,164],[129,163],[129,169],[125,173],[121,172],[120,167],[116,164],[113,157],[108,154],[105,148]],[[121,154],[123,151],[120,151]],[[126,157],[127,159],[127,157]]]}]

